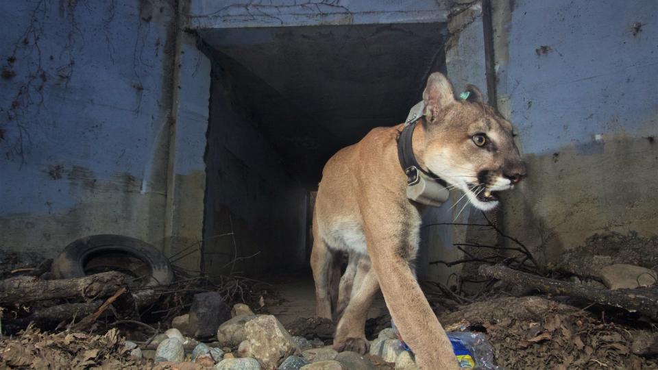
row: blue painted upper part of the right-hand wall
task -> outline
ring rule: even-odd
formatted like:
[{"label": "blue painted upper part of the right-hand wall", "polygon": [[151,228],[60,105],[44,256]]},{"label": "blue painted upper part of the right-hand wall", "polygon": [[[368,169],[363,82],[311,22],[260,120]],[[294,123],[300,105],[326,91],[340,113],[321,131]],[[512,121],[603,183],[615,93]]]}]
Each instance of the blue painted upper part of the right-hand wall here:
[{"label": "blue painted upper part of the right-hand wall", "polygon": [[655,14],[655,1],[515,1],[504,89],[526,153],[657,133]]}]

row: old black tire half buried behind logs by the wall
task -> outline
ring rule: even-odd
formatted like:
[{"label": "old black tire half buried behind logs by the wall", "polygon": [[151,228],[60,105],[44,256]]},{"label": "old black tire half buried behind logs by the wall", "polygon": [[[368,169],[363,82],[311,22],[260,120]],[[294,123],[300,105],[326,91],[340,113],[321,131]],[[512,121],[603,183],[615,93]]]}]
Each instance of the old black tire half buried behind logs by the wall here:
[{"label": "old black tire half buried behind logs by the wall", "polygon": [[[128,269],[127,267],[122,269],[122,266],[117,264],[117,256],[119,261],[126,261],[125,264],[128,264],[129,260],[142,262],[147,267],[149,276],[141,280],[139,284],[141,286],[163,285],[173,281],[173,270],[169,260],[161,251],[142,240],[112,234],[86,236],[67,245],[53,260],[53,275],[57,279],[88,275],[86,271],[88,262],[102,259],[103,256],[108,256],[108,260],[111,261],[108,262],[110,264],[108,269],[117,271]],[[125,256],[125,259],[121,256]],[[112,264],[116,268],[112,268]]]}]

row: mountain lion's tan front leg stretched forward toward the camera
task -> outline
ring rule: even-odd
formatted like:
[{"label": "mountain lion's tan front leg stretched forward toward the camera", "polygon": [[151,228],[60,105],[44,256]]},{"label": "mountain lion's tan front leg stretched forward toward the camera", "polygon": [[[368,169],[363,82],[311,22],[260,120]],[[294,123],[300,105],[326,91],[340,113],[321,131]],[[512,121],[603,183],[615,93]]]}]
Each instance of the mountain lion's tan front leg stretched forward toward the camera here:
[{"label": "mountain lion's tan front leg stretched forward toward the camera", "polygon": [[[409,230],[408,214],[391,217],[395,213],[391,210],[395,207],[364,212],[368,254],[391,317],[421,369],[459,369],[448,336],[409,267],[416,248],[409,245],[409,240],[414,239],[411,235],[417,230]],[[382,217],[383,214],[387,217]]]}]

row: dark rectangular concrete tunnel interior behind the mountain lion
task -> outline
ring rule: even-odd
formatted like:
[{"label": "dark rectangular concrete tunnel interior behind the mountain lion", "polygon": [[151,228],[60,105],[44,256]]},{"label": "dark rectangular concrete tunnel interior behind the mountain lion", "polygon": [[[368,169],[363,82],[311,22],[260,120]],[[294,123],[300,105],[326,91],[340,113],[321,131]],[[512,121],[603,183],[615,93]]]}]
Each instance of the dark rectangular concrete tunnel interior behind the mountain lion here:
[{"label": "dark rectangular concrete tunnel interior behind the mountain lion", "polygon": [[445,73],[446,32],[444,23],[199,30],[212,60],[204,270],[234,269],[234,257],[249,271],[307,265],[324,163],[371,128],[404,121],[428,75]]}]

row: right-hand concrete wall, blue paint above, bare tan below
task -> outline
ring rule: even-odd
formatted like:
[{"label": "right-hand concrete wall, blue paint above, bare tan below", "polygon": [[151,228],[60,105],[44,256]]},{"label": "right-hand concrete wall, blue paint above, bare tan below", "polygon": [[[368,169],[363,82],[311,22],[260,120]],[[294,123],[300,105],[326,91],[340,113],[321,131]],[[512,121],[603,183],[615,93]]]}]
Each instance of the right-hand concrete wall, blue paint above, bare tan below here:
[{"label": "right-hand concrete wall, blue paint above, bare tan below", "polygon": [[504,199],[507,232],[547,262],[597,232],[655,235],[658,3],[493,9],[498,101],[528,158],[528,179]]}]

